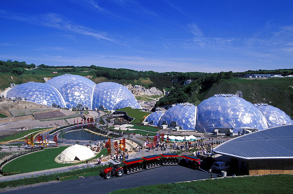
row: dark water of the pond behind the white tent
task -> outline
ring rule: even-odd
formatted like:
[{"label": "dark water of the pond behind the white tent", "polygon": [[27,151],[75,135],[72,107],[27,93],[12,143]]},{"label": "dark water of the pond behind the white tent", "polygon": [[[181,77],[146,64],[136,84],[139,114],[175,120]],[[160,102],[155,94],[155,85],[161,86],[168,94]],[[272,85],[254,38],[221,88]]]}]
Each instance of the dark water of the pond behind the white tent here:
[{"label": "dark water of the pond behind the white tent", "polygon": [[95,135],[93,133],[89,133],[87,131],[78,130],[78,131],[70,131],[67,133],[64,133],[63,135],[64,139],[67,140],[105,140],[108,139],[106,137]]}]

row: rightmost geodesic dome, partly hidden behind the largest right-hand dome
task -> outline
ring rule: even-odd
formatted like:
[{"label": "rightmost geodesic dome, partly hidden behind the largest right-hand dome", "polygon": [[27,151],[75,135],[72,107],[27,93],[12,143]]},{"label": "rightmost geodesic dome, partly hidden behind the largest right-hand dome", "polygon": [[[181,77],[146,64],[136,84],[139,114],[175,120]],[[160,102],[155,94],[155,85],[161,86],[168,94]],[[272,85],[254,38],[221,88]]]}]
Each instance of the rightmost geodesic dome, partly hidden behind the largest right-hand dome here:
[{"label": "rightmost geodesic dome, partly hidden behind the largest right-hand dome", "polygon": [[292,119],[282,110],[268,104],[254,104],[254,106],[265,116],[268,127],[293,124]]}]

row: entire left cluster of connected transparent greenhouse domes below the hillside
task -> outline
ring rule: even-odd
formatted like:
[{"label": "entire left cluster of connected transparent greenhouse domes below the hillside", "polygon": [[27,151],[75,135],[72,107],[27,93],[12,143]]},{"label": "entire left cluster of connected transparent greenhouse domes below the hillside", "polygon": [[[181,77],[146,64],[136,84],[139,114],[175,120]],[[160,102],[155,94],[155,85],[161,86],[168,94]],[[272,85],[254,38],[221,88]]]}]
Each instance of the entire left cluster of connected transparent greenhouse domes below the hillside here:
[{"label": "entire left cluster of connected transparent greenhouse domes below the hillside", "polygon": [[28,82],[7,92],[9,99],[22,99],[51,107],[116,110],[124,107],[140,109],[134,95],[114,82],[95,84],[79,75],[60,75],[46,83]]}]

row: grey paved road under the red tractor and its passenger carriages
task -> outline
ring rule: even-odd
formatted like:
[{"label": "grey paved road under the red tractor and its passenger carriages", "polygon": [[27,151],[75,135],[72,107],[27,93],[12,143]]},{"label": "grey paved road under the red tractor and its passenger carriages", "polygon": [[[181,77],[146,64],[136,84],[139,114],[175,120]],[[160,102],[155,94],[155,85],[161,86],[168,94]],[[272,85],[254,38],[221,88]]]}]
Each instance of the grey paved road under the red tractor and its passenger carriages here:
[{"label": "grey paved road under the red tractor and its passenger carriages", "polygon": [[[143,185],[159,183],[176,183],[209,178],[210,174],[192,170],[183,166],[160,166],[154,169],[142,170],[134,174],[124,174],[122,177],[112,177],[106,180],[100,176],[85,177],[71,181],[48,183],[45,185],[9,190],[4,193],[109,193],[118,189],[128,189]],[[213,174],[214,178],[217,174]],[[184,192],[184,191],[183,191]]]}]

